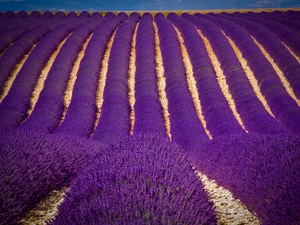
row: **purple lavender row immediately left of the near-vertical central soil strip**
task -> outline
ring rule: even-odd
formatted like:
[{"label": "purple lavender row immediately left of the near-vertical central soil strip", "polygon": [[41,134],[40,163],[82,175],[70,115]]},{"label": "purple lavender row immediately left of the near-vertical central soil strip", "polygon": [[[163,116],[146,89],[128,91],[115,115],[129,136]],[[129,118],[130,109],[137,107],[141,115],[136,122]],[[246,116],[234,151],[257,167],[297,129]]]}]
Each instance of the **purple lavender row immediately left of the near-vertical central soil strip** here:
[{"label": "purple lavender row immediately left of the near-vertical central soil strip", "polygon": [[103,143],[129,135],[130,105],[128,100],[128,69],[133,32],[139,20],[132,13],[118,27],[108,61],[103,105],[92,138]]}]

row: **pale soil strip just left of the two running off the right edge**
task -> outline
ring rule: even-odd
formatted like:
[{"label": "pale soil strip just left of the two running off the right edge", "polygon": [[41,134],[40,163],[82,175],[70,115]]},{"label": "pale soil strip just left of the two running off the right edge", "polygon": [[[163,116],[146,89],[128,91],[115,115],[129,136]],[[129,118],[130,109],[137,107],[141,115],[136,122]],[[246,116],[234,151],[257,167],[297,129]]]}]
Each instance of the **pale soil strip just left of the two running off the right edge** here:
[{"label": "pale soil strip just left of the two running off the right edge", "polygon": [[254,91],[254,93],[256,94],[256,97],[260,100],[260,102],[263,104],[264,108],[267,110],[267,112],[273,116],[275,118],[275,116],[273,115],[269,105],[268,105],[268,102],[267,100],[265,99],[265,96],[261,93],[260,91],[260,88],[259,88],[259,85],[258,85],[258,81],[257,79],[255,78],[252,70],[250,69],[250,67],[248,66],[248,63],[247,63],[247,60],[243,57],[241,51],[239,50],[239,48],[236,46],[236,44],[234,43],[234,41],[227,37],[225,34],[224,36],[228,39],[229,41],[229,44],[231,45],[233,51],[235,52],[238,60],[240,61],[241,65],[242,65],[242,68],[243,70],[245,71],[246,73],[246,76],[252,86],[252,89]]}]

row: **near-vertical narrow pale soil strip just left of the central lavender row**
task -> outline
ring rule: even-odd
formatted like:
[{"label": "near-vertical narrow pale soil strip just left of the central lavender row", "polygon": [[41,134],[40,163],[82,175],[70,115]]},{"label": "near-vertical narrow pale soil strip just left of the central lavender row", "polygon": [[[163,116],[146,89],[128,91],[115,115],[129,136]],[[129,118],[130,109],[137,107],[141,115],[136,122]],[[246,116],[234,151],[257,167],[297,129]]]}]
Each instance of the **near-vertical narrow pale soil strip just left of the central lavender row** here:
[{"label": "near-vertical narrow pale soil strip just left of the central lavender row", "polygon": [[136,46],[136,34],[137,34],[138,27],[139,27],[139,23],[136,24],[134,33],[132,36],[130,59],[129,59],[129,70],[128,70],[128,100],[129,100],[129,105],[130,105],[130,129],[129,129],[130,134],[133,133],[133,127],[134,127],[134,104],[135,104],[134,86],[135,86],[135,72],[136,72],[135,46]]}]

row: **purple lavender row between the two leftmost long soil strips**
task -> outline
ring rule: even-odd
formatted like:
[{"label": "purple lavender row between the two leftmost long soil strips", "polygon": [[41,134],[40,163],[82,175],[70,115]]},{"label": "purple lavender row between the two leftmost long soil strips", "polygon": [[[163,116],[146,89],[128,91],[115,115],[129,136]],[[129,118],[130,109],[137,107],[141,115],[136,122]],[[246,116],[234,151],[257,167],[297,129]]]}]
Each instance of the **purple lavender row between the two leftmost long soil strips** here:
[{"label": "purple lavender row between the two leftmost long soil strips", "polygon": [[0,130],[16,128],[27,118],[36,81],[57,45],[84,20],[73,20],[55,27],[44,36],[27,58],[9,93],[0,104]]}]

